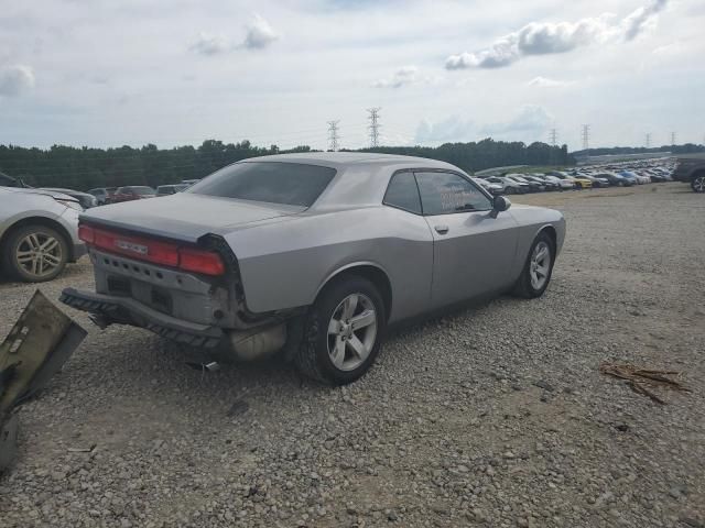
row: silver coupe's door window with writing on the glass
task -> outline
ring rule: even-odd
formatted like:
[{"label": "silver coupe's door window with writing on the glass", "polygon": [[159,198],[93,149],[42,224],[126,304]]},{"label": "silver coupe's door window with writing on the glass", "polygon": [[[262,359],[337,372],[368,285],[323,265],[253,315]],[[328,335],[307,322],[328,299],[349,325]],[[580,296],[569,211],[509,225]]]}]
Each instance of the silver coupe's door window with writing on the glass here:
[{"label": "silver coupe's door window with writing on the glass", "polygon": [[474,184],[452,173],[416,173],[424,215],[488,211],[490,199]]}]

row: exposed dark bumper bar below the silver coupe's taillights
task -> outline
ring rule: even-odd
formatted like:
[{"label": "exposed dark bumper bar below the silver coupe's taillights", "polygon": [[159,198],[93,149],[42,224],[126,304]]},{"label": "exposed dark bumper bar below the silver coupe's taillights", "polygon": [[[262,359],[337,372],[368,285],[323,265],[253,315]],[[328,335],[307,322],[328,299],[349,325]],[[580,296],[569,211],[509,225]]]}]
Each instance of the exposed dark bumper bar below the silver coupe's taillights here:
[{"label": "exposed dark bumper bar below the silver coupe's taillights", "polygon": [[176,319],[128,297],[66,288],[62,293],[61,301],[72,308],[100,316],[108,323],[117,322],[142,327],[159,336],[192,346],[214,348],[224,338],[224,332],[218,327]]}]

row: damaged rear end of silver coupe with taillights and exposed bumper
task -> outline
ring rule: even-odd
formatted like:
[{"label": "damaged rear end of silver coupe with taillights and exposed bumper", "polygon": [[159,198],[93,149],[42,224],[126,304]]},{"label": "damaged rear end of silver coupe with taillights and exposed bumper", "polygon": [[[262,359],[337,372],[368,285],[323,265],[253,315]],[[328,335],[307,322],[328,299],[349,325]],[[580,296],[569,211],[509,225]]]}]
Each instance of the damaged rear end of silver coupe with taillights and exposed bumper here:
[{"label": "damaged rear end of silver coupe with taillights and exposed bumper", "polygon": [[62,300],[98,324],[134,324],[176,341],[215,346],[235,326],[231,265],[217,240],[188,243],[82,220],[96,292],[64,290]]}]

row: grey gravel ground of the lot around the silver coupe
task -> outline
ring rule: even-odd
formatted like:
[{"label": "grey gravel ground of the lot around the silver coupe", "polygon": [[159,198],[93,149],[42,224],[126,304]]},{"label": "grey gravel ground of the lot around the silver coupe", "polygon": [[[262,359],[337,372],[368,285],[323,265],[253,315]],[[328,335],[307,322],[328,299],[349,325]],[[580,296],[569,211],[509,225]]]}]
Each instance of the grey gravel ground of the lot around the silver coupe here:
[{"label": "grey gravel ground of the lot around the silver coupe", "polygon": [[[358,383],[202,373],[89,330],[21,409],[0,526],[703,527],[705,201],[676,184],[517,198],[561,209],[546,295],[398,330]],[[42,285],[91,287],[84,260]],[[0,284],[10,329],[34,287]],[[683,372],[659,406],[604,361]],[[95,444],[90,453],[68,451]]]}]

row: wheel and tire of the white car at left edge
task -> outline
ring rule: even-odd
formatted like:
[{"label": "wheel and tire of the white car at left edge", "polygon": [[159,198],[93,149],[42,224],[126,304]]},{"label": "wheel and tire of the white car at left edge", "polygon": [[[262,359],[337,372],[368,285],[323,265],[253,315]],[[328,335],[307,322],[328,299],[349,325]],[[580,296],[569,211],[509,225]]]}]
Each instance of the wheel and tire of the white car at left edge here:
[{"label": "wheel and tire of the white car at left edge", "polygon": [[52,280],[68,262],[68,242],[63,234],[46,226],[17,229],[2,249],[3,267],[26,283]]}]

